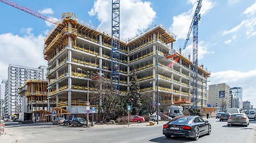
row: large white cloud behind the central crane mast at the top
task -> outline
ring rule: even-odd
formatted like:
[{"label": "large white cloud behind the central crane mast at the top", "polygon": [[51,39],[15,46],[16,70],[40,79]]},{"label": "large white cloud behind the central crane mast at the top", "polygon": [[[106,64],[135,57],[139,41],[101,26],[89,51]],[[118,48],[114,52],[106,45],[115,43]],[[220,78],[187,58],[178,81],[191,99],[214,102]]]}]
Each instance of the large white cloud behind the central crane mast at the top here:
[{"label": "large white cloud behind the central crane mast at the top", "polygon": [[[120,2],[120,37],[131,38],[139,31],[151,25],[156,12],[151,8],[150,2],[141,0],[126,0]],[[107,33],[111,32],[111,1],[96,0],[93,8],[88,11],[90,16],[96,16],[101,22],[99,28]]]}]

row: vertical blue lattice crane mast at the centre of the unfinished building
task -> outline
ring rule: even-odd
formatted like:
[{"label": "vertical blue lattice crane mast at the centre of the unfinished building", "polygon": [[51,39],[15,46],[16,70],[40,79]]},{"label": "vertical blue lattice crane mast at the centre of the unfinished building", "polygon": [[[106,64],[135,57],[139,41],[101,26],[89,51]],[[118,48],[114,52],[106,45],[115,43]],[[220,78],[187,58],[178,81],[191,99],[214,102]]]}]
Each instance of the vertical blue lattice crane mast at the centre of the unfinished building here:
[{"label": "vertical blue lattice crane mast at the centre of the unfinished building", "polygon": [[112,32],[111,32],[111,83],[112,89],[119,92],[119,23],[120,0],[112,0]]}]

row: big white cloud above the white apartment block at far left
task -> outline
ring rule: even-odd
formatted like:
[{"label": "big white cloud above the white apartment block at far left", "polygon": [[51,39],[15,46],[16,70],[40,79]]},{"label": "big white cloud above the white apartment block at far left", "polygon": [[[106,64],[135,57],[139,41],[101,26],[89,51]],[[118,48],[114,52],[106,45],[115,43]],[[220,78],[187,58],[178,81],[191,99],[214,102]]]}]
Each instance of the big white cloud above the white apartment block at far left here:
[{"label": "big white cloud above the white apartment block at far left", "polygon": [[31,34],[32,28],[21,31],[26,33],[25,36],[0,34],[0,79],[7,79],[9,64],[34,68],[47,66],[42,55],[45,36],[34,36]]}]

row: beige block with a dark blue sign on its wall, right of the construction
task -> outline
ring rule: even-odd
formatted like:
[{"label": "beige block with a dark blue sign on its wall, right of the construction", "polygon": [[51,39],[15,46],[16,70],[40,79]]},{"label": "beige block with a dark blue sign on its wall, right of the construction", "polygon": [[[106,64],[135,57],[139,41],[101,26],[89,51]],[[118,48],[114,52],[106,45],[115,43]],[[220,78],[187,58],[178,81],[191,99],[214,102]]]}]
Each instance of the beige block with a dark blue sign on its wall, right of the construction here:
[{"label": "beige block with a dark blue sign on its wall, right of the construction", "polygon": [[213,107],[220,107],[223,110],[229,107],[229,85],[227,83],[220,83],[216,85],[209,85],[209,99],[208,103]]}]

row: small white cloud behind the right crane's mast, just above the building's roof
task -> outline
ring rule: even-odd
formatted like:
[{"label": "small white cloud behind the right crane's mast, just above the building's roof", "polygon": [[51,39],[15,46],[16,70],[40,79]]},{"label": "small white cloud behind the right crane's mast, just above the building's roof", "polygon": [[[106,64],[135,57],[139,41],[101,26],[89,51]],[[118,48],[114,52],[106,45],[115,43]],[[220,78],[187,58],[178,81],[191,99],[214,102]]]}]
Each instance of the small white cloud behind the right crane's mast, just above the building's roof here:
[{"label": "small white cloud behind the right crane's mast, just above the building's roof", "polygon": [[[207,54],[214,54],[214,51],[208,51],[207,47],[209,47],[208,43],[205,43],[203,41],[200,41],[198,43],[198,60],[203,59],[204,55]],[[186,55],[188,54],[193,54],[193,43],[191,43],[190,45],[187,46],[187,48],[183,51],[183,53],[185,53]],[[191,56],[193,57],[193,56]],[[192,58],[191,58],[192,59]]]}]

